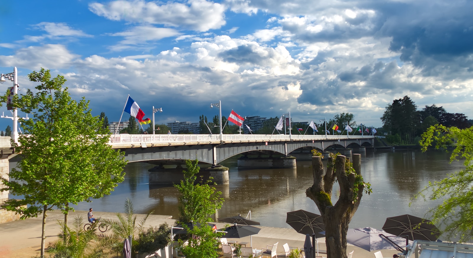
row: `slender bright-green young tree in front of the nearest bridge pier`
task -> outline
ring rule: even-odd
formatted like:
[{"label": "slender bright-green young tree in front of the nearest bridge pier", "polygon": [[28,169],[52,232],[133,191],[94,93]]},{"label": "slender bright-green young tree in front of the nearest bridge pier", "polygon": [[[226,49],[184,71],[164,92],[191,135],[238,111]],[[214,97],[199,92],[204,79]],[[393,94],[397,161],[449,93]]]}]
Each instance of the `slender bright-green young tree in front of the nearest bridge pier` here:
[{"label": "slender bright-green young tree in front of the nearest bridge pier", "polygon": [[179,197],[179,213],[180,217],[177,221],[185,224],[191,221],[204,224],[212,222],[211,215],[220,209],[223,198],[220,198],[222,192],[216,191],[215,187],[209,184],[211,181],[197,180],[197,173],[200,167],[197,165],[198,160],[186,160],[187,170],[184,170],[184,180],[174,187],[181,193]]}]

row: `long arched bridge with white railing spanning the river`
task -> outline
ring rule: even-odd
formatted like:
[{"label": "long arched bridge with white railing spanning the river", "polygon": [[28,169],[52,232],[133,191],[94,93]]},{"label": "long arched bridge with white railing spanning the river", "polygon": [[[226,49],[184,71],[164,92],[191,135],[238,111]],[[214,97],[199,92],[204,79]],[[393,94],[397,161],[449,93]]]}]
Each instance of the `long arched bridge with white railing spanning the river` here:
[{"label": "long arched bridge with white railing spanning the river", "polygon": [[239,154],[288,156],[291,152],[313,147],[324,151],[339,148],[373,146],[372,135],[265,135],[265,134],[171,134],[112,135],[109,144],[121,149],[128,162],[161,161],[162,164],[195,160],[217,165]]}]

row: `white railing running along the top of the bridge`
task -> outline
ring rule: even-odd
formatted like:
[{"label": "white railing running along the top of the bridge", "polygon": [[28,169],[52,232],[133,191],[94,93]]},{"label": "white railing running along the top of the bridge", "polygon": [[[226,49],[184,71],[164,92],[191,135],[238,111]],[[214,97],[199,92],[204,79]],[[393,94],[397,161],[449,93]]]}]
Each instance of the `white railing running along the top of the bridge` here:
[{"label": "white railing running along the top of the bridge", "polygon": [[[251,142],[251,141],[289,141],[289,140],[346,140],[346,139],[368,139],[372,135],[270,135],[270,134],[224,134],[224,142]],[[140,144],[140,143],[186,143],[186,142],[219,142],[218,134],[117,134],[110,136],[110,144]]]}]

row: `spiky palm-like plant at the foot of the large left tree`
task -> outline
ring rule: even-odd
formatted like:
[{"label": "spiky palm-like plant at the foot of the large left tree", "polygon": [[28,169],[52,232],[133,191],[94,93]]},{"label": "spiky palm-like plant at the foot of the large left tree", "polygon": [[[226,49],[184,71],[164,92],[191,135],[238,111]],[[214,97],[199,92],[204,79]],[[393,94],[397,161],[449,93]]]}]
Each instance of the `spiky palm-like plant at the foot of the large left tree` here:
[{"label": "spiky palm-like plant at the foot of the large left tree", "polygon": [[61,257],[67,258],[100,258],[104,255],[103,249],[96,248],[96,240],[99,235],[96,234],[96,223],[84,231],[82,217],[74,217],[72,228],[59,221],[61,232],[58,234],[58,240],[48,243],[48,252],[52,252]]}]

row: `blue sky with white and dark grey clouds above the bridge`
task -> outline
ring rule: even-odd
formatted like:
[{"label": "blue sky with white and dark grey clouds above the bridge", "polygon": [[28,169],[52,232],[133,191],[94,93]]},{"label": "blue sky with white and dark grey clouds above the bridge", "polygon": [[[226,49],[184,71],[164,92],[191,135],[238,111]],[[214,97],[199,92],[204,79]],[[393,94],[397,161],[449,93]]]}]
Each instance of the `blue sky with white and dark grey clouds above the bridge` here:
[{"label": "blue sky with white and dark grey clouds above the bridge", "polygon": [[128,94],[145,117],[162,107],[157,123],[211,119],[221,100],[227,117],[350,112],[381,126],[404,95],[472,119],[472,9],[464,0],[0,0],[0,73],[17,67],[20,89],[34,88],[27,74],[51,69],[109,121]]}]

